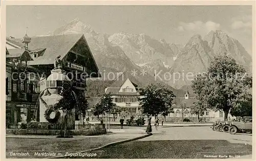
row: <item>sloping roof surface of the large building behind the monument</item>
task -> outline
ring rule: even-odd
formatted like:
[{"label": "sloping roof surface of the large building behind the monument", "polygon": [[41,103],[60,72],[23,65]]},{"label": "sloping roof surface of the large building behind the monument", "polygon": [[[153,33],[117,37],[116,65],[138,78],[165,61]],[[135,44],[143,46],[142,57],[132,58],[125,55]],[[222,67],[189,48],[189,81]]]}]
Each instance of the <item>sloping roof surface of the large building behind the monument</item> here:
[{"label": "sloping roof surface of the large building behind the monument", "polygon": [[[54,64],[55,58],[60,55],[61,59],[69,52],[69,50],[78,42],[82,35],[58,35],[58,36],[38,36],[32,37],[29,43],[29,49],[46,48],[43,56],[38,57],[34,61],[29,61],[29,65],[47,65]],[[12,39],[18,44],[21,39]]]}]

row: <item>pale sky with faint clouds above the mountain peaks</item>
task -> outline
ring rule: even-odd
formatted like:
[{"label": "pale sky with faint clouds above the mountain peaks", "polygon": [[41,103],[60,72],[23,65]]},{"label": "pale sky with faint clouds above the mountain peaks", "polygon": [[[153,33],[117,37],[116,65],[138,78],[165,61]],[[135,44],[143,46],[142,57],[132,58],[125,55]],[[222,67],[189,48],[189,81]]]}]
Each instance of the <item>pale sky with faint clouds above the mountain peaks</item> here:
[{"label": "pale sky with faint clouds above the mountain peaks", "polygon": [[79,18],[99,33],[144,33],[185,44],[194,34],[223,30],[251,53],[250,6],[7,6],[7,36],[45,35]]}]

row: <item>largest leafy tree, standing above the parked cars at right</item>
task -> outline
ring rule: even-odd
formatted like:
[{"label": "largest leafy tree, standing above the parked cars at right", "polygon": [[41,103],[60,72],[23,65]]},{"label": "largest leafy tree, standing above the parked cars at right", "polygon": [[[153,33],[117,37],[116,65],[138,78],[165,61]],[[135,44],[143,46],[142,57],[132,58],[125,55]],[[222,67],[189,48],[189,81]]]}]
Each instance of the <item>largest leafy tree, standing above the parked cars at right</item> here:
[{"label": "largest leafy tree, standing above the parked cars at right", "polygon": [[[203,108],[224,111],[227,120],[232,106],[241,104],[240,95],[247,95],[251,77],[245,69],[226,54],[215,57],[204,74],[198,74],[192,88]],[[241,88],[242,87],[242,88]]]}]

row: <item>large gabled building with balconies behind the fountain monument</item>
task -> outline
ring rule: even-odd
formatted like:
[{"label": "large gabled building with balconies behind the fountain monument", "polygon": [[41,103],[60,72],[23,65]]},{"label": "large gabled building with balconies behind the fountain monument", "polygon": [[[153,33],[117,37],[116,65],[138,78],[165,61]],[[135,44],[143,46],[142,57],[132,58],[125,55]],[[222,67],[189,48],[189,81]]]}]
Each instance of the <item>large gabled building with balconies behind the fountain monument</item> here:
[{"label": "large gabled building with balconies behind the fountain monument", "polygon": [[[84,35],[6,38],[6,122],[39,121],[38,96],[60,56],[62,69],[72,79],[79,99],[86,96],[86,78],[100,77]],[[15,76],[13,73],[23,73]],[[15,81],[16,80],[16,81]],[[76,119],[79,116],[76,115]]]}]

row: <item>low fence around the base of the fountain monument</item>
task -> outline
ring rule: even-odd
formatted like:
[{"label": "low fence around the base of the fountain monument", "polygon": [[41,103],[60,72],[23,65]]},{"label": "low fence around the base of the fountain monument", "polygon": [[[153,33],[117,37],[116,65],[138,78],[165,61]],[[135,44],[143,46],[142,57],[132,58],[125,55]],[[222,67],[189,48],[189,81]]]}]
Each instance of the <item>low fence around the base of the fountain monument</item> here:
[{"label": "low fence around the base of the fountain monument", "polygon": [[[63,130],[65,129],[65,124],[50,124],[50,123],[40,123],[40,122],[30,122],[30,123],[8,123],[6,124],[7,129],[53,129],[53,130]],[[67,125],[68,130],[73,129],[103,129],[105,126],[103,124],[78,124],[78,125]]]}]

